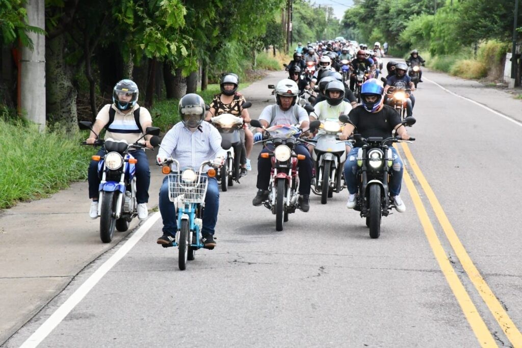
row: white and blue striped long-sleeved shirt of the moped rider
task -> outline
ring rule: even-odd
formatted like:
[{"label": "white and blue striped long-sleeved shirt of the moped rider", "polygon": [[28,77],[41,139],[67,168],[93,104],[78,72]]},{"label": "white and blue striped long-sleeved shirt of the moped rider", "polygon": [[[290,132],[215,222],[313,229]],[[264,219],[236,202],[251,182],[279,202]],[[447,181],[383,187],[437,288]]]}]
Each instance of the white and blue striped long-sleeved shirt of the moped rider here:
[{"label": "white and blue striped long-sleeved shirt of the moped rider", "polygon": [[[226,155],[221,148],[219,131],[208,122],[202,122],[194,132],[178,122],[165,134],[158,151],[160,158],[172,157],[179,161],[180,169],[192,167],[194,170],[205,161]],[[175,166],[172,169],[175,170]]]}]

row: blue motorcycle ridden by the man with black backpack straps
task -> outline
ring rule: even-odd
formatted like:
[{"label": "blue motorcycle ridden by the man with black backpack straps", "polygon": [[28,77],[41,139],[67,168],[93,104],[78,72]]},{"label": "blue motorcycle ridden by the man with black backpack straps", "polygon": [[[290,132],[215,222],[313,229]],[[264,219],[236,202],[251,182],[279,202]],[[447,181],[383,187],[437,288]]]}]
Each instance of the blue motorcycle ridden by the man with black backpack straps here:
[{"label": "blue motorcycle ridden by the man with black backpack straps", "polygon": [[[78,123],[82,130],[92,131],[92,122],[81,121]],[[94,133],[94,131],[92,131]],[[98,138],[98,134],[94,133]],[[158,127],[147,127],[145,135],[152,135],[150,144],[153,147],[159,145]],[[143,137],[145,137],[145,135]],[[138,140],[142,139],[139,138]],[[85,141],[81,145],[90,145]],[[98,216],[100,217],[100,238],[103,243],[110,243],[114,236],[114,229],[125,232],[128,230],[132,219],[137,216],[136,201],[136,172],[137,160],[129,153],[136,149],[146,147],[137,141],[128,144],[125,140],[97,139],[93,146],[104,146],[105,155],[92,156],[98,161],[98,175],[101,176],[100,196],[98,198]]]}]

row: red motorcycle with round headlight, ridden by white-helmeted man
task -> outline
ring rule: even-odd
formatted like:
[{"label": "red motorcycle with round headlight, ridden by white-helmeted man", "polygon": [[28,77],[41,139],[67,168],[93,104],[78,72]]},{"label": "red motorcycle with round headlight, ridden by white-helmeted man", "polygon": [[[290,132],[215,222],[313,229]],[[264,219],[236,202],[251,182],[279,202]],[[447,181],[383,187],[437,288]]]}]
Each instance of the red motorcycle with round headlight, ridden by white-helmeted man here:
[{"label": "red motorcycle with round headlight, ridden by white-helmeted man", "polygon": [[[319,126],[320,121],[313,121],[310,129]],[[250,122],[253,127],[263,128],[257,119]],[[270,172],[270,184],[268,186],[268,200],[264,206],[276,215],[276,231],[283,230],[283,222],[288,221],[288,214],[299,208],[299,168],[298,161],[306,157],[293,152],[303,134],[301,128],[293,125],[277,125],[264,129],[262,141],[271,141],[274,149],[272,152],[261,153],[262,158],[270,158],[272,170]]]}]

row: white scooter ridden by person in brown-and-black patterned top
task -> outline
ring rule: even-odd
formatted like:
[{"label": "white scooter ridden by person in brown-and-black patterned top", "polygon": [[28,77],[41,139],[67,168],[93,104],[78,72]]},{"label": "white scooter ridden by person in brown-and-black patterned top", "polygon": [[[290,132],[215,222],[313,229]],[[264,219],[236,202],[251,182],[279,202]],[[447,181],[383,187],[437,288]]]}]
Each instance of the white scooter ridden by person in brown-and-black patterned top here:
[{"label": "white scooter ridden by person in brown-and-black patterned top", "polygon": [[[251,106],[251,102],[244,102],[241,107],[247,109]],[[243,118],[232,114],[221,114],[212,117],[211,122],[218,129],[222,141],[230,141],[232,144],[217,175],[221,190],[226,192],[229,186],[234,185],[234,181],[239,183],[240,159],[243,151],[240,130],[243,128]]]}]

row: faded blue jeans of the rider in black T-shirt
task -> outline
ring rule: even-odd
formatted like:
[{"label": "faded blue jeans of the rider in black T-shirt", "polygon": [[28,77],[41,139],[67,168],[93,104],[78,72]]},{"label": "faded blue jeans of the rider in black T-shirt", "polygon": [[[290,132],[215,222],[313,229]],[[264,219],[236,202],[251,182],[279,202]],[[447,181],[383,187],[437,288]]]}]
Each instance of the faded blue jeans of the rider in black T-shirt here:
[{"label": "faded blue jeans of the rider in black T-shirt", "polygon": [[[350,153],[348,153],[348,157],[345,162],[345,181],[346,186],[348,187],[348,192],[353,195],[357,193],[357,152],[360,148],[353,148]],[[395,148],[392,149],[392,177],[388,183],[389,191],[392,197],[398,196],[400,194],[400,186],[402,184],[402,172],[404,172],[404,166],[402,165],[402,161],[400,160],[399,155]]]}]

